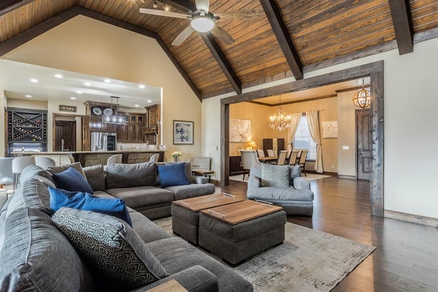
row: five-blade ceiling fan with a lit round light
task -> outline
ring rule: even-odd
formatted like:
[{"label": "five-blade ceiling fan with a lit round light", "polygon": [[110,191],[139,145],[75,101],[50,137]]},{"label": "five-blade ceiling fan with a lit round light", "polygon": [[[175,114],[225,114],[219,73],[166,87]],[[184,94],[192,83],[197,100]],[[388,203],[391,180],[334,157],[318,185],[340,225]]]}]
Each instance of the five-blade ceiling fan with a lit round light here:
[{"label": "five-blade ceiling fan with a lit round light", "polygon": [[[212,32],[218,38],[220,38],[227,45],[231,45],[235,40],[224,29],[216,25],[219,20],[235,21],[235,20],[248,20],[255,19],[263,16],[263,10],[246,10],[246,11],[232,11],[213,14],[209,12],[209,0],[196,0],[196,11],[189,11],[188,14],[169,12],[164,10],[154,10],[148,8],[140,8],[140,12],[144,14],[152,14],[158,16],[175,17],[177,19],[188,19],[190,25],[186,27],[175,40],[172,45],[178,46],[186,40],[192,32]],[[154,1],[155,6],[155,1]]]}]

